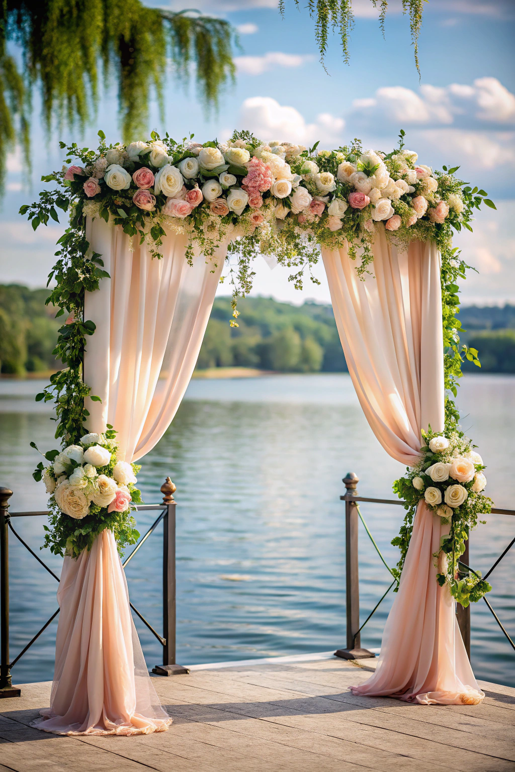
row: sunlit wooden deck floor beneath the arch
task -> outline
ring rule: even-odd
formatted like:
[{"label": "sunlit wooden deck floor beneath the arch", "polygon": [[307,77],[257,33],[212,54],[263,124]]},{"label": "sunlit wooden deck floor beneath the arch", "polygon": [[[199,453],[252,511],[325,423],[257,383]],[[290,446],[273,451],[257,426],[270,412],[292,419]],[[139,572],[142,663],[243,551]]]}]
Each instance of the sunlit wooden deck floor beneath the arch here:
[{"label": "sunlit wooden deck floor beneath the arch", "polygon": [[482,683],[480,706],[354,697],[374,666],[263,662],[156,678],[166,733],[60,737],[28,726],[50,683],[0,702],[0,770],[16,772],[501,772],[515,770],[515,689]]}]

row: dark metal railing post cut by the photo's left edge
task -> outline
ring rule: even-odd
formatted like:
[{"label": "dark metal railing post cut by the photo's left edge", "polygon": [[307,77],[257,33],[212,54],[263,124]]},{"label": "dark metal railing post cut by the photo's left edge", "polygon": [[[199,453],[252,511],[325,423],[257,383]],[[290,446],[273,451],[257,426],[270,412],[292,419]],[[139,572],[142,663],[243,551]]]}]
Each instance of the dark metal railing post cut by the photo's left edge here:
[{"label": "dark metal railing post cut by the photo's left edge", "polygon": [[9,662],[9,504],[10,488],[0,487],[0,697],[19,697],[21,689],[11,682]]}]

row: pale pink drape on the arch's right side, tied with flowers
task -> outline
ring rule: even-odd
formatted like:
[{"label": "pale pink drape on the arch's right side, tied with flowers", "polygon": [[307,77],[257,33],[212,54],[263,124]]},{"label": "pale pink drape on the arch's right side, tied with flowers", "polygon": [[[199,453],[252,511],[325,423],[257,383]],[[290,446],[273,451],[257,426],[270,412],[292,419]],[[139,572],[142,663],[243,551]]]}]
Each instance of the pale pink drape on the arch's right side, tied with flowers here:
[{"label": "pale pink drape on the arch's right side, tied with flowers", "polygon": [[[323,250],[334,316],[357,396],[374,434],[394,459],[413,466],[421,429],[444,420],[442,296],[435,244],[388,243],[378,228],[373,276],[361,281],[347,249]],[[479,701],[446,586],[433,554],[449,533],[424,503],[415,515],[401,584],[385,625],[374,675],[355,694],[419,703]]]}]

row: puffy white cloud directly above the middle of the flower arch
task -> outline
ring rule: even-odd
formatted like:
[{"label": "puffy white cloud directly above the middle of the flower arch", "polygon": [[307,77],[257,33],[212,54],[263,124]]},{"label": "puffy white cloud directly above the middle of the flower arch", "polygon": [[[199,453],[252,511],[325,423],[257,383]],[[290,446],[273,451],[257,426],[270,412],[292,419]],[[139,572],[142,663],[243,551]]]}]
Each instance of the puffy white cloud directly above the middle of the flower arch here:
[{"label": "puffy white cloud directly above the middle of the flower arch", "polygon": [[295,107],[280,105],[272,97],[246,99],[239,123],[265,141],[278,139],[306,145],[317,140],[322,144],[337,143],[345,126],[343,118],[330,113],[320,113],[313,124],[307,124]]}]

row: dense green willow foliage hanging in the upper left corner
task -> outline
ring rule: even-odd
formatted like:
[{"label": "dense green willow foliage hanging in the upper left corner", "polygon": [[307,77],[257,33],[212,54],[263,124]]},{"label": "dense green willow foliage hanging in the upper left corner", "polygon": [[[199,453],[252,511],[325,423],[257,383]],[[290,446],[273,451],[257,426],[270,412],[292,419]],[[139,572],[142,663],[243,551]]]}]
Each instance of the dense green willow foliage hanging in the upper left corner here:
[{"label": "dense green willow foliage hanging in the upper left corner", "polygon": [[[0,4],[0,181],[19,136],[28,151],[30,95],[36,86],[46,130],[83,128],[94,117],[99,81],[118,83],[124,140],[145,134],[151,91],[163,113],[168,62],[181,86],[195,64],[198,95],[217,107],[234,80],[232,27],[222,19],[147,8],[140,0],[3,0]],[[6,42],[22,52],[23,76]],[[99,74],[100,63],[100,74]]]}]

